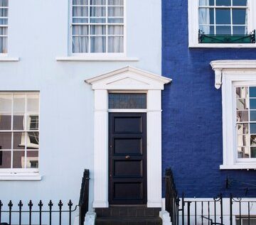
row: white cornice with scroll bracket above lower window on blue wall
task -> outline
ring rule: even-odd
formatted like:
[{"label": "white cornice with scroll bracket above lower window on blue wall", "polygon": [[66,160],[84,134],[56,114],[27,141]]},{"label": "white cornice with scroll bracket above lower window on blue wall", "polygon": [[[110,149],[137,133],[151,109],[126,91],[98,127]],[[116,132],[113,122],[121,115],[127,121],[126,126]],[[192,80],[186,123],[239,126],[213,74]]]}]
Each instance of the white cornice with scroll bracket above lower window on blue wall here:
[{"label": "white cornice with scroll bracket above lower window on blue wall", "polygon": [[215,60],[210,62],[215,71],[215,88],[220,89],[223,71],[256,70],[256,60]]}]

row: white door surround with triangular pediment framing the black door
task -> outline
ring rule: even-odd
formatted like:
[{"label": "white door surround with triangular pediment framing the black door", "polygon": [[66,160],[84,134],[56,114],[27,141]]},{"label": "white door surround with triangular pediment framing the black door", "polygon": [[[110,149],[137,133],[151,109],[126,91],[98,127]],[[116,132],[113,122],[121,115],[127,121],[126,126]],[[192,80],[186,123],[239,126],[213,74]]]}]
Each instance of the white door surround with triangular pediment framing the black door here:
[{"label": "white door surround with triangular pediment framing the black door", "polygon": [[85,82],[92,84],[92,89],[95,91],[94,200],[92,207],[109,207],[108,92],[112,91],[144,91],[147,93],[147,207],[161,207],[161,90],[164,89],[164,84],[171,82],[171,79],[134,67],[124,67],[105,75],[92,77]]}]

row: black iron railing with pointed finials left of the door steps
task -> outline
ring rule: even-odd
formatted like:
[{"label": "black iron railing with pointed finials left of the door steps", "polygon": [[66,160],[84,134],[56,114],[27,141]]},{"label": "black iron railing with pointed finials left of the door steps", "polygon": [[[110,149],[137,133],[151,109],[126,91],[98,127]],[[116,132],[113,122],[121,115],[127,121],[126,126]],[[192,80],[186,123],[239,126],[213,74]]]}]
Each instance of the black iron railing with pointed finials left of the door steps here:
[{"label": "black iron railing with pointed finials left of the door steps", "polygon": [[19,201],[9,201],[4,204],[0,200],[0,225],[28,224],[28,225],[56,225],[56,224],[72,224],[73,212],[79,207],[79,223],[84,224],[85,214],[88,210],[89,197],[89,170],[85,170],[82,177],[82,185],[80,191],[80,202],[73,206],[73,202],[63,203],[60,200],[58,203],[53,203],[52,200],[44,204],[41,200],[37,203]]}]

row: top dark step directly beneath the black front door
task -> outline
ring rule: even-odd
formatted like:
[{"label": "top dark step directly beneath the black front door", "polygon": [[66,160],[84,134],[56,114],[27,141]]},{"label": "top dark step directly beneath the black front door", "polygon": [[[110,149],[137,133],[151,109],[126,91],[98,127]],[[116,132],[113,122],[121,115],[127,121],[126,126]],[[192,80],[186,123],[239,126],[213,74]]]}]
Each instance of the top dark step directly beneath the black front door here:
[{"label": "top dark step directly beneath the black front door", "polygon": [[147,207],[110,207],[110,208],[97,208],[95,212],[97,218],[100,217],[158,217],[161,208],[147,208]]}]

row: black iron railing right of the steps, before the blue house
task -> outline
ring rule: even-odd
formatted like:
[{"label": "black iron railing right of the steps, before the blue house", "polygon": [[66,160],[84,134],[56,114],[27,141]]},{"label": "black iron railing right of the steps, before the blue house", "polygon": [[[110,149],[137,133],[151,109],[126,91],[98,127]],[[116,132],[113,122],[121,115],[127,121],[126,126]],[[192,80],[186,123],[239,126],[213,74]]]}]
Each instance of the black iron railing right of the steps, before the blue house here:
[{"label": "black iron railing right of the steps, before the blue house", "polygon": [[256,201],[219,194],[209,200],[178,197],[171,169],[166,169],[166,211],[172,225],[242,225],[255,224]]}]

